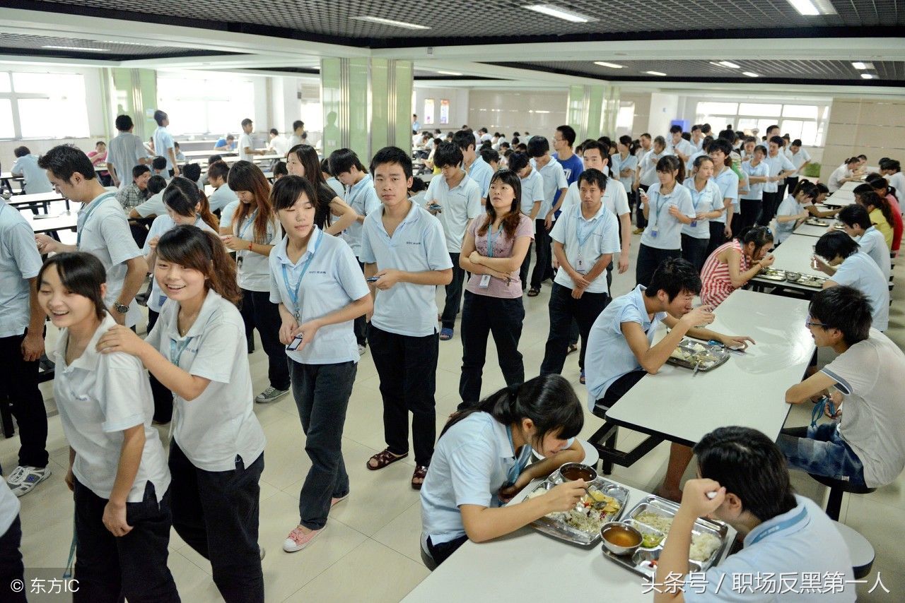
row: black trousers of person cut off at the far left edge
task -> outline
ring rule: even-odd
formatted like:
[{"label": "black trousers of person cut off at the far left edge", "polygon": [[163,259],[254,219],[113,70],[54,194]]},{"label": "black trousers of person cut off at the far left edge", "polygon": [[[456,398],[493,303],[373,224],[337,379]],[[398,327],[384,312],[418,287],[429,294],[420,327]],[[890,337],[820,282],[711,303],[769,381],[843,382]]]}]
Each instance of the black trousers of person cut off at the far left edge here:
[{"label": "black trousers of person cut off at the far left edge", "polygon": [[[0,337],[0,402],[13,403],[19,422],[19,465],[47,466],[47,410],[38,390],[39,362],[25,362],[22,342],[27,334]],[[8,586],[8,585],[7,585]]]}]

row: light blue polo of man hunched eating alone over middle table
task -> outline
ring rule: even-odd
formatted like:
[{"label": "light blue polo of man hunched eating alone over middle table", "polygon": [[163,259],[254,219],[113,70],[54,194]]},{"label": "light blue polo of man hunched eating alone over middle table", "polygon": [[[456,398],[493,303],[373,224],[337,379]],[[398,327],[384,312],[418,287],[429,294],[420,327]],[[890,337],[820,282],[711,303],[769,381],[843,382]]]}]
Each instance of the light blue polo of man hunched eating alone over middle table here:
[{"label": "light blue polo of man hunched eating alone over middle table", "polygon": [[604,397],[615,380],[642,368],[625,340],[622,324],[638,323],[647,334],[648,344],[653,344],[655,327],[666,317],[665,312],[657,312],[650,319],[644,308],[644,289],[638,285],[624,296],[616,297],[591,326],[585,356],[590,410],[594,410],[595,402]]}]

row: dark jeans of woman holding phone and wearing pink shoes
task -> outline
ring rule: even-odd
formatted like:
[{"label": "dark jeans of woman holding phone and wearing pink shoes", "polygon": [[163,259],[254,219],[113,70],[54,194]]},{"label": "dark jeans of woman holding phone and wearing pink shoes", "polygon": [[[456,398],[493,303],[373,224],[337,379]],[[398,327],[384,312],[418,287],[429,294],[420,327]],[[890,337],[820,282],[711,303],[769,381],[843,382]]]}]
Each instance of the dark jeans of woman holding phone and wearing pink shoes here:
[{"label": "dark jeans of woman holding phone and wearing pink shoes", "polygon": [[292,396],[305,433],[305,452],[311,459],[299,494],[299,523],[309,530],[327,525],[330,498],[348,495],[342,429],[357,370],[352,362],[301,364],[290,360]]}]

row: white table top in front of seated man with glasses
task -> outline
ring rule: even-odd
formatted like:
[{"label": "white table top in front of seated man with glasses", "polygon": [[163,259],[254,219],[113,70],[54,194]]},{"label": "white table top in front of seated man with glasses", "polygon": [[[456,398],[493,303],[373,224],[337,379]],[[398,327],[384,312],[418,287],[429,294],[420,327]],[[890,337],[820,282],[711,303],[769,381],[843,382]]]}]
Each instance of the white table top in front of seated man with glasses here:
[{"label": "white table top in front of seated man with glasses", "polygon": [[[688,369],[664,364],[656,375],[645,375],[606,418],[686,444],[729,425],[776,439],[789,411],[786,390],[801,381],[814,353],[814,340],[805,329],[807,302],[738,289],[714,314],[708,328],[748,335],[757,344],[745,353],[731,353],[713,371],[693,376]],[[657,340],[665,332],[660,325]]]}]

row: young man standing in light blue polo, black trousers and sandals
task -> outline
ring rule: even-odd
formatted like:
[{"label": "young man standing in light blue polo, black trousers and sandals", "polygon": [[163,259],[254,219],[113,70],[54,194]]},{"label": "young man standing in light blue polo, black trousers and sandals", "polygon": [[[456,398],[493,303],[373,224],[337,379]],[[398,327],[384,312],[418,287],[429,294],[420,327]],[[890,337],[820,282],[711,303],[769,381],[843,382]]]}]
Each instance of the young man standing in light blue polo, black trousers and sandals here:
[{"label": "young man standing in light blue polo, black trousers and sandals", "polygon": [[365,277],[377,278],[368,339],[384,402],[386,449],[367,461],[376,471],[408,456],[408,413],[413,414],[414,474],[420,490],[433,456],[436,416],[438,285],[452,281],[443,227],[423,207],[408,200],[412,158],[387,146],[371,160],[374,186],[383,207],[365,218],[361,260]]}]

